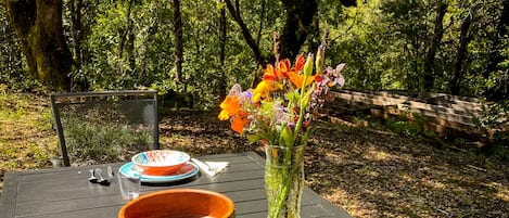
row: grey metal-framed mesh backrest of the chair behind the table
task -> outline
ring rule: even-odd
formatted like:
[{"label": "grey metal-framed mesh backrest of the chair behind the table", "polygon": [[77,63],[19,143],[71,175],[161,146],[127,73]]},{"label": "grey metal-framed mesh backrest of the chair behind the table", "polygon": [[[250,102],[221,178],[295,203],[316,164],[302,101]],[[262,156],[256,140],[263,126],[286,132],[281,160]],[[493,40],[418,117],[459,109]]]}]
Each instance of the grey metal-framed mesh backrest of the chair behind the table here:
[{"label": "grey metal-framed mesh backrest of the chair behind the table", "polygon": [[125,90],[52,93],[63,165],[128,161],[158,149],[157,92]]}]

